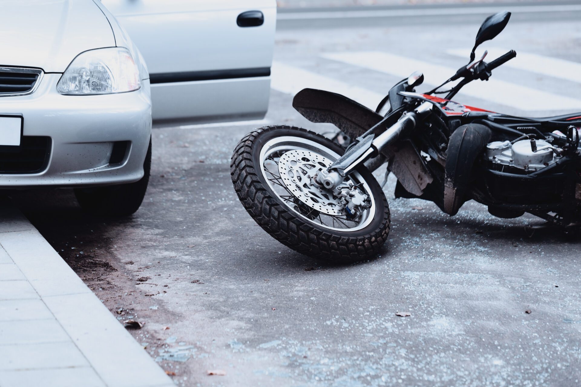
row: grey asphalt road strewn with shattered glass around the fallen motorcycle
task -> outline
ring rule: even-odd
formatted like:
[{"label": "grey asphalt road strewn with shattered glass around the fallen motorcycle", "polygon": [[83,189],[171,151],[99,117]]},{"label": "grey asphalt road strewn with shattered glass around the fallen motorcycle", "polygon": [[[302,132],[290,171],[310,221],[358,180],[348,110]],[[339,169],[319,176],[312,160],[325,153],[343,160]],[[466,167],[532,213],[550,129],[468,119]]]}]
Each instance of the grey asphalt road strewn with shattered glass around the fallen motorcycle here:
[{"label": "grey asphalt road strewn with shattered glass around the fallen motorcycle", "polygon": [[[490,46],[581,63],[578,21],[542,17],[517,18]],[[346,63],[349,53],[379,50],[457,68],[465,59],[446,49],[468,54],[479,26],[464,21],[436,31],[423,23],[281,26],[275,61],[323,83],[360,86],[353,91],[363,97],[381,95],[401,77]],[[494,75],[502,92],[522,93],[517,84],[548,98],[580,96],[580,83],[558,70]],[[284,91],[289,85],[276,77],[273,87]],[[278,90],[266,122],[332,130],[306,122]],[[562,110],[530,112],[474,93],[457,99],[514,114]],[[354,265],[315,262],[268,236],[235,196],[229,158],[256,125],[153,129],[150,187],[128,219],[90,218],[67,190],[12,196],[112,313],[145,323],[134,337],[178,385],[579,385],[579,241],[554,231],[528,238],[524,226],[538,219],[494,218],[474,202],[450,218],[430,202],[394,200],[392,179],[382,254]]]}]

